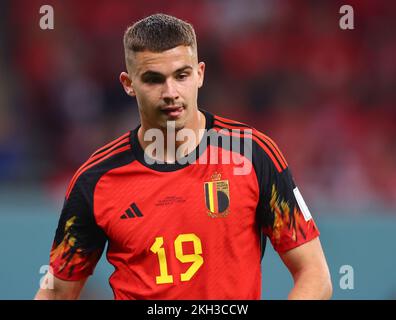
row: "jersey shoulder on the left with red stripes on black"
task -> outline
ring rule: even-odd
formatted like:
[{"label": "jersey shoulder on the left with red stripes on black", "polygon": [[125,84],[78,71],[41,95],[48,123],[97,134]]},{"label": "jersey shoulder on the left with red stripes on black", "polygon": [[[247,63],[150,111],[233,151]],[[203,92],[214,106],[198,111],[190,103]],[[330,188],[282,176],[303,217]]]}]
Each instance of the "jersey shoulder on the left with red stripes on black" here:
[{"label": "jersey shoulder on the left with red stripes on black", "polygon": [[[66,198],[77,184],[94,187],[107,171],[133,161],[130,131],[97,149],[75,172],[69,183]],[[84,188],[86,189],[86,188]]]}]

